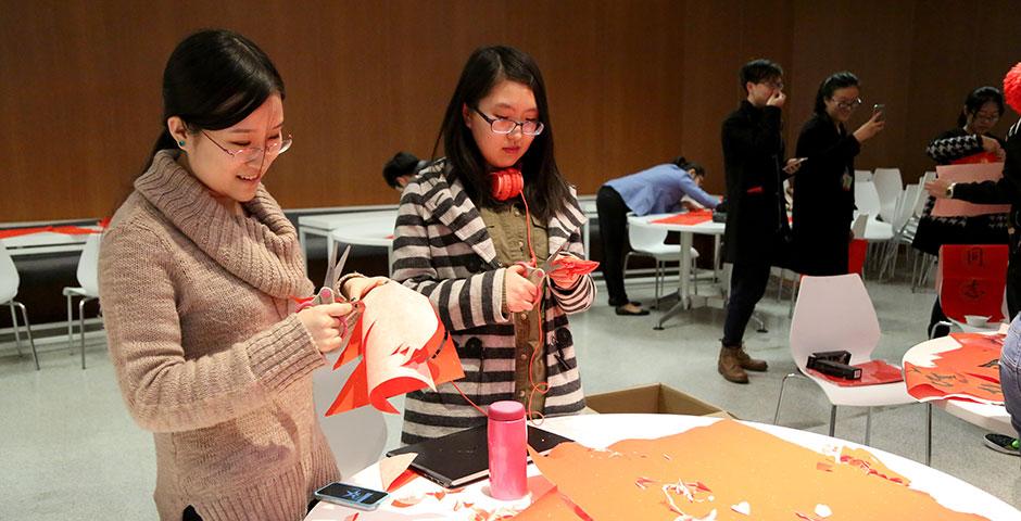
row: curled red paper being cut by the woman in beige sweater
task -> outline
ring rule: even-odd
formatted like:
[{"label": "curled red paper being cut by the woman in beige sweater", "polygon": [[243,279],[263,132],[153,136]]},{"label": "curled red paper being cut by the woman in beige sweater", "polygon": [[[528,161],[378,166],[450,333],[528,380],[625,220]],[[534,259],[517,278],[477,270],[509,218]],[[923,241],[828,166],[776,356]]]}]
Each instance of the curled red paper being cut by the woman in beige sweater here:
[{"label": "curled red paper being cut by the woman in beige sweater", "polygon": [[388,398],[464,378],[461,358],[432,304],[421,293],[390,282],[368,293],[338,368],[361,357],[326,416],[373,405],[398,410]]}]

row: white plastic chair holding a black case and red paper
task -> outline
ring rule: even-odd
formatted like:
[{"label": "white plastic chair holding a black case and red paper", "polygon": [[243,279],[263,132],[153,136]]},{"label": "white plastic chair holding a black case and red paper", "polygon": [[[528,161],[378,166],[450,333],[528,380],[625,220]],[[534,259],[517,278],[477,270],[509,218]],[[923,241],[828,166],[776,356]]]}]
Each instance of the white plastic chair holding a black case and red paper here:
[{"label": "white plastic chair holding a black case and red paper", "polygon": [[791,356],[797,372],[783,377],[773,424],[780,418],[783,389],[791,377],[808,378],[818,385],[831,404],[830,436],[836,428],[836,407],[867,407],[865,444],[872,430],[872,407],[915,403],[904,382],[842,387],[808,372],[808,355],[821,351],[847,351],[850,364],[872,359],[879,343],[879,319],[865,283],[857,274],[835,277],[803,277],[794,318],[791,320]]}]

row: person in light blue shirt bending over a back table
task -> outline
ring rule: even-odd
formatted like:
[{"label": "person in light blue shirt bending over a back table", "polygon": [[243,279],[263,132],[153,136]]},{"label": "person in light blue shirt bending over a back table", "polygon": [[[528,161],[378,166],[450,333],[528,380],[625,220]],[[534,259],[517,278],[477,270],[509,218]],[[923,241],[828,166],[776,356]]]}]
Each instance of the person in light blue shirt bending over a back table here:
[{"label": "person in light blue shirt bending over a back table", "polygon": [[617,315],[648,315],[638,302],[628,300],[623,287],[623,256],[628,245],[628,213],[634,215],[693,209],[694,204],[684,195],[707,208],[716,208],[719,200],[702,189],[705,168],[678,157],[670,163],[606,181],[595,198],[600,217],[600,238],[603,244],[603,279],[609,293],[609,305]]}]

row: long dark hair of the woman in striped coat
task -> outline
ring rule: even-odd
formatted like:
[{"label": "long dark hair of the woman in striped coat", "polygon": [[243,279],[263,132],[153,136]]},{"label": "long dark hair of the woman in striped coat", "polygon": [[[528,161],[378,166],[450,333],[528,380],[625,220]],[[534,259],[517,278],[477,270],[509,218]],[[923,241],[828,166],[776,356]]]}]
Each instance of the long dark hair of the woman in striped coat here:
[{"label": "long dark hair of the woman in striped coat", "polygon": [[532,140],[521,157],[521,174],[525,176],[525,198],[529,209],[540,219],[546,220],[570,195],[567,182],[560,176],[553,157],[553,124],[546,104],[546,87],[532,56],[512,47],[493,46],[477,49],[468,58],[457,88],[446,105],[443,124],[432,149],[436,158],[440,141],[450,162],[453,175],[465,186],[468,198],[476,205],[493,206],[496,201],[490,194],[490,179],[486,158],[479,151],[471,130],[465,125],[462,107],[476,106],[501,80],[518,81],[532,90],[539,109],[539,119],[545,129]]}]

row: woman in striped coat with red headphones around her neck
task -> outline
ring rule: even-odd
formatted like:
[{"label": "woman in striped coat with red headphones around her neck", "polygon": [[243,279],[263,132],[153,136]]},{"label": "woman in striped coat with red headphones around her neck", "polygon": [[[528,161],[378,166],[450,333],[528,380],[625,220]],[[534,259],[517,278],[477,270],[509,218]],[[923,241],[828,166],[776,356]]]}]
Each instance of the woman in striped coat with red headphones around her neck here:
[{"label": "woman in striped coat with red headphones around her neck", "polygon": [[[407,395],[404,443],[484,423],[461,391],[480,407],[516,399],[546,416],[584,408],[567,315],[588,309],[595,285],[588,275],[537,281],[516,264],[584,253],[585,217],[556,168],[545,88],[531,56],[506,47],[477,50],[437,145],[441,139],[446,157],[420,171],[401,198],[393,279],[437,307],[465,378],[459,391],[443,384]],[[515,176],[524,181],[516,194],[507,189]]]}]

